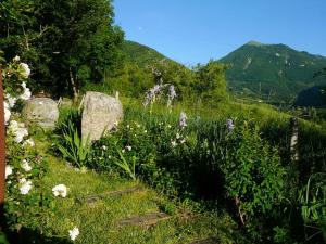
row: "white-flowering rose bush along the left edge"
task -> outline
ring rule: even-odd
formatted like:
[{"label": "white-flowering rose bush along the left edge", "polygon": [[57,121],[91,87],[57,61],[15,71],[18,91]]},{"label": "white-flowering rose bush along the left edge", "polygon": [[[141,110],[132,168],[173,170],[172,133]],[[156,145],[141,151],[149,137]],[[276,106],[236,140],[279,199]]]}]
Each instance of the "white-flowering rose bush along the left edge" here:
[{"label": "white-flowering rose bush along the left edge", "polygon": [[[36,216],[41,213],[40,206],[45,207],[40,201],[43,197],[50,197],[38,189],[46,171],[45,162],[38,155],[34,140],[28,138],[29,133],[25,124],[12,118],[14,116],[20,117],[17,101],[24,102],[32,97],[30,89],[26,85],[30,69],[27,64],[20,63],[20,56],[15,56],[2,74],[5,91],[3,106],[7,126],[5,156],[8,159],[5,166],[8,200],[4,208],[8,223],[13,228],[28,221],[35,222],[38,218]],[[18,93],[15,93],[16,91]],[[52,189],[52,193],[54,196],[66,197],[67,188],[64,184],[58,184]],[[78,234],[77,227],[68,231],[73,241]]]}]

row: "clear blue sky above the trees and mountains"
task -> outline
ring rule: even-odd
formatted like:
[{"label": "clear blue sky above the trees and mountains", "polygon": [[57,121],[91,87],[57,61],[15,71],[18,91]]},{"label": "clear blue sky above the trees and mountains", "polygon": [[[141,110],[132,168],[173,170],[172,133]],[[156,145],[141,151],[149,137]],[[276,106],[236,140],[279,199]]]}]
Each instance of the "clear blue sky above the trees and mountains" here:
[{"label": "clear blue sky above the trees and mountains", "polygon": [[243,43],[285,43],[326,56],[326,0],[114,0],[126,39],[183,64]]}]

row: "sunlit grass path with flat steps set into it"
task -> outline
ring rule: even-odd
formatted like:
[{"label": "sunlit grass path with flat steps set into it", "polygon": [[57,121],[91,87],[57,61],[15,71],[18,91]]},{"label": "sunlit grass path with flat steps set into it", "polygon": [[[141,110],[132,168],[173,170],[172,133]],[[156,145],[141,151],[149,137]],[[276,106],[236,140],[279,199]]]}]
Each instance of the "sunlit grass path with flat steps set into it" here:
[{"label": "sunlit grass path with flat steps set into it", "polygon": [[[37,146],[42,152],[47,150],[47,140],[40,137],[37,141]],[[47,236],[66,240],[68,230],[77,226],[80,235],[75,243],[87,244],[190,243],[208,236],[217,236],[222,243],[233,243],[230,240],[235,240],[234,223],[226,215],[216,218],[216,214],[203,213],[185,219],[180,213],[189,211],[188,207],[175,206],[146,185],[141,192],[106,197],[92,205],[80,204],[76,198],[127,189],[139,182],[110,178],[91,170],[76,171],[50,154],[47,154],[47,159],[50,170],[46,178],[46,187],[51,189],[55,184],[64,183],[68,188],[66,198],[54,200],[52,216],[49,216],[45,226]],[[131,226],[120,228],[116,223],[118,219],[160,211],[166,206],[174,209],[172,218],[148,230]]]}]

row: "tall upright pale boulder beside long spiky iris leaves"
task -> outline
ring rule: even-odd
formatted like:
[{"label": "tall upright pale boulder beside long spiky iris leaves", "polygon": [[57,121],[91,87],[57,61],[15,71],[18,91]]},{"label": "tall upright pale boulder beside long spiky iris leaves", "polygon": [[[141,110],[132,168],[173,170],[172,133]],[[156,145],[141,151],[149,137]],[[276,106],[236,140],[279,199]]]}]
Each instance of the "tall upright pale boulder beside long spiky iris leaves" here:
[{"label": "tall upright pale boulder beside long spiky iris leaves", "polygon": [[123,119],[122,103],[110,95],[88,91],[84,98],[82,118],[82,136],[86,140],[98,140],[101,136],[116,127]]}]

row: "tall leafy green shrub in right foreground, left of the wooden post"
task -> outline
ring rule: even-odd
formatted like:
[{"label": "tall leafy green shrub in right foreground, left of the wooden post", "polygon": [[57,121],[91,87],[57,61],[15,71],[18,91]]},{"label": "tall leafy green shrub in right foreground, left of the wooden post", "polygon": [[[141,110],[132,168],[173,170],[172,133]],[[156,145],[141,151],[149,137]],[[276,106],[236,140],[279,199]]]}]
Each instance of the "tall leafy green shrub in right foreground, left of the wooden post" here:
[{"label": "tall leafy green shrub in right foreground, left of the wooden post", "polygon": [[275,149],[259,136],[259,128],[239,125],[227,142],[222,170],[227,195],[235,200],[243,223],[267,214],[284,198],[285,170]]}]

